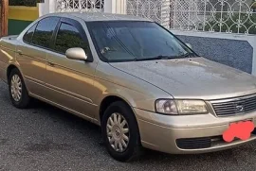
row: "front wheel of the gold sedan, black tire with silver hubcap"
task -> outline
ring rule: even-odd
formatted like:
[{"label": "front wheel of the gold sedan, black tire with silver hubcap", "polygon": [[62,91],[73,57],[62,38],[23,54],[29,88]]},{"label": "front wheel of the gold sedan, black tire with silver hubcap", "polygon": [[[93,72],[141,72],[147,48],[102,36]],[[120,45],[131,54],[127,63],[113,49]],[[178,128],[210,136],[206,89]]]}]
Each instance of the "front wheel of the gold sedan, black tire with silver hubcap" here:
[{"label": "front wheel of the gold sedan, black tire with silver hubcap", "polygon": [[[117,129],[114,128],[115,126],[117,126],[115,125],[114,113],[116,113],[117,120],[119,120],[120,118],[119,123],[124,123],[123,122],[124,120],[127,122],[127,124],[124,125],[123,129],[119,129],[121,127]],[[114,119],[112,119],[112,121],[114,121],[114,126],[112,127],[112,129],[107,128],[108,126],[111,125],[110,118],[113,118],[113,117]],[[127,132],[127,128],[129,132]],[[102,130],[103,142],[107,148],[107,151],[115,160],[119,162],[131,162],[138,159],[138,157],[141,154],[141,143],[140,143],[140,137],[139,137],[139,130],[137,127],[137,119],[135,117],[134,112],[131,110],[131,108],[128,105],[126,105],[121,101],[112,103],[103,114],[103,117],[101,120],[101,130]],[[120,130],[120,132],[118,130]],[[110,132],[110,134],[112,133],[112,136],[109,135],[108,132]],[[124,143],[126,143],[127,145],[125,147],[125,145],[121,143],[123,149],[120,149],[120,146],[118,144],[119,149],[117,150],[114,147],[115,143],[113,141],[112,141],[113,142],[112,145],[110,143],[111,142],[110,140],[115,139],[115,136],[116,138],[118,137],[117,134],[119,135],[119,137],[124,137],[124,135],[126,135],[126,137],[128,137],[129,139],[129,141],[127,141],[127,138],[126,139],[121,138],[124,140]],[[119,139],[119,137],[117,139]],[[119,140],[119,142],[122,142],[122,141]]]}]

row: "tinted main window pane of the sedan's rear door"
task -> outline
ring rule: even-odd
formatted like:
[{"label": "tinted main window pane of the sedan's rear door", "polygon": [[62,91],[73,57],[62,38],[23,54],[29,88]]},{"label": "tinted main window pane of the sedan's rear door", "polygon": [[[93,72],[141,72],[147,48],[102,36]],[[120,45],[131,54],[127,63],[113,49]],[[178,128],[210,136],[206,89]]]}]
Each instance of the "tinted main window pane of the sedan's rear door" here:
[{"label": "tinted main window pane of the sedan's rear door", "polygon": [[32,43],[42,47],[49,48],[53,31],[58,25],[58,17],[47,17],[41,20],[35,29]]}]

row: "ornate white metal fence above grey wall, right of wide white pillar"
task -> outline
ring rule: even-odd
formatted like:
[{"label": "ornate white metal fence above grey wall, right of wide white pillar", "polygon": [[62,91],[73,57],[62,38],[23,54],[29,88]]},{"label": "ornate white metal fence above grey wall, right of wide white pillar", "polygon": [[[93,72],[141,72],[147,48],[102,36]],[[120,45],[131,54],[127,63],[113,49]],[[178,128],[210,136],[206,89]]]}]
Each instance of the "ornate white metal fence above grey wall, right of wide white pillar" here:
[{"label": "ornate white metal fence above grey wall, right of wide white pillar", "polygon": [[177,30],[256,34],[254,0],[127,0],[127,13]]}]

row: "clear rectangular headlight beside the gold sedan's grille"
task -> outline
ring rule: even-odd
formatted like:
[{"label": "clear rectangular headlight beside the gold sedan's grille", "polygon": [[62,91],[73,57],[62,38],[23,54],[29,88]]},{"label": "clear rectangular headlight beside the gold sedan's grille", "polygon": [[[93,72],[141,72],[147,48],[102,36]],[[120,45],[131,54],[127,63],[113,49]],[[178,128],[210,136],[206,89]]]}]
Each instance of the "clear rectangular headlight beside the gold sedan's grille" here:
[{"label": "clear rectangular headlight beside the gold sedan's grille", "polygon": [[208,112],[203,100],[167,100],[155,101],[155,111],[164,114],[205,114]]}]

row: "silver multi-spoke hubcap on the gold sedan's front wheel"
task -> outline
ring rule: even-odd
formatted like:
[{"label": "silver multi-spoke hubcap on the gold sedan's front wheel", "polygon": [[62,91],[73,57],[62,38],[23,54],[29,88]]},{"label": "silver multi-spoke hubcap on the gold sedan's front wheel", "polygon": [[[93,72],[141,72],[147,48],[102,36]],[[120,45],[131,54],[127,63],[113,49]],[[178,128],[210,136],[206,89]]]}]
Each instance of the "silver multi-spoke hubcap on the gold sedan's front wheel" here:
[{"label": "silver multi-spoke hubcap on the gold sedan's front wheel", "polygon": [[107,137],[115,151],[123,152],[130,140],[129,126],[119,113],[113,113],[107,120]]}]

